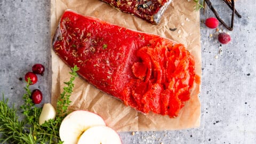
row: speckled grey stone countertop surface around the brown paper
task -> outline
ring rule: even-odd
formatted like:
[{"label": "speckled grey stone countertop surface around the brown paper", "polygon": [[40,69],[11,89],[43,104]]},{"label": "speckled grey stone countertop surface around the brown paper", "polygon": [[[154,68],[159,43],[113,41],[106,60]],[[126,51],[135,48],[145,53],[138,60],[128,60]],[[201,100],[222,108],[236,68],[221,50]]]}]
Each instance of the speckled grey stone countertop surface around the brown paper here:
[{"label": "speckled grey stone countertop surface around the brown paper", "polygon": [[[220,0],[212,2],[230,23],[231,11],[227,6]],[[31,89],[40,89],[46,95],[43,102],[50,101],[50,8],[50,0],[0,0],[0,92],[16,105],[25,93],[23,76],[34,63],[42,63],[46,70]],[[236,9],[242,18],[235,17],[234,30],[228,31],[232,41],[227,45],[220,45],[215,30],[204,25],[213,13],[209,9],[205,14],[201,11],[201,126],[134,135],[122,132],[119,134],[123,143],[256,142],[256,9],[253,0],[236,1]]]}]

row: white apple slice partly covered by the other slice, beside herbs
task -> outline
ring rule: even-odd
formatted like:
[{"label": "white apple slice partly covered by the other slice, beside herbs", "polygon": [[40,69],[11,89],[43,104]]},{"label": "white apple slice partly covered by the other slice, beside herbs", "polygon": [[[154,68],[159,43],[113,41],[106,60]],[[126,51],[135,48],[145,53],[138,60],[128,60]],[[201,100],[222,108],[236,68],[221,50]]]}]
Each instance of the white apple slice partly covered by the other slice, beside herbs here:
[{"label": "white apple slice partly covered by the other slice, beside herbs", "polygon": [[77,143],[81,134],[92,126],[105,126],[103,119],[90,111],[77,110],[67,115],[60,125],[60,139],[64,143]]}]

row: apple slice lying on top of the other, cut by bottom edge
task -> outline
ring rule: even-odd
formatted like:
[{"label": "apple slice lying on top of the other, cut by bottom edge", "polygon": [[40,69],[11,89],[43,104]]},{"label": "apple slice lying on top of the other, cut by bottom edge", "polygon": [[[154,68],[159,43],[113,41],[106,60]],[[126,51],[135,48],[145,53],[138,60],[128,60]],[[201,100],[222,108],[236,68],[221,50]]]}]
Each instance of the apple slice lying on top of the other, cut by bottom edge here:
[{"label": "apple slice lying on top of the other, cut by bottom edge", "polygon": [[94,126],[86,130],[77,144],[122,144],[119,135],[108,126]]}]

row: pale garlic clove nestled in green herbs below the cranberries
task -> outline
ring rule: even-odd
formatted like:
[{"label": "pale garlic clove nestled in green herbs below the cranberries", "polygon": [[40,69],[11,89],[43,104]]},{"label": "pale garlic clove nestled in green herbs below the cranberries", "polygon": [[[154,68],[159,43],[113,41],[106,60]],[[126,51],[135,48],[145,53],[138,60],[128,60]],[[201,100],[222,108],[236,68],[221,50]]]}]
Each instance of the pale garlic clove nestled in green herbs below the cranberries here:
[{"label": "pale garlic clove nestled in green herbs below the cranberries", "polygon": [[45,121],[54,119],[55,117],[56,111],[51,103],[44,103],[41,115],[39,116],[39,125],[42,125]]}]

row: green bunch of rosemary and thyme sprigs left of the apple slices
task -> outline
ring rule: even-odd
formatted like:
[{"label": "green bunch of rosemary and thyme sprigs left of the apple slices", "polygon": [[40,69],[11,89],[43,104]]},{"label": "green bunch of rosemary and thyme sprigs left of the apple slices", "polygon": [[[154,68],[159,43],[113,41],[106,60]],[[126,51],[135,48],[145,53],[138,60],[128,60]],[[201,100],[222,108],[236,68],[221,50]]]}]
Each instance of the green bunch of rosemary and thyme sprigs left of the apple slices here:
[{"label": "green bunch of rosemary and thyme sprigs left of the apple slices", "polygon": [[30,99],[31,91],[29,85],[31,80],[28,79],[25,87],[26,94],[23,95],[25,101],[21,105],[22,114],[25,119],[19,121],[17,110],[7,105],[7,100],[0,101],[0,138],[1,143],[63,143],[59,137],[59,127],[63,118],[68,114],[68,106],[70,104],[70,95],[73,92],[74,80],[77,77],[77,66],[71,68],[72,72],[69,82],[65,82],[67,86],[63,87],[63,92],[57,102],[57,116],[50,119],[43,125],[39,125],[39,115],[42,108],[36,107]]}]

